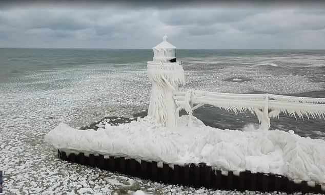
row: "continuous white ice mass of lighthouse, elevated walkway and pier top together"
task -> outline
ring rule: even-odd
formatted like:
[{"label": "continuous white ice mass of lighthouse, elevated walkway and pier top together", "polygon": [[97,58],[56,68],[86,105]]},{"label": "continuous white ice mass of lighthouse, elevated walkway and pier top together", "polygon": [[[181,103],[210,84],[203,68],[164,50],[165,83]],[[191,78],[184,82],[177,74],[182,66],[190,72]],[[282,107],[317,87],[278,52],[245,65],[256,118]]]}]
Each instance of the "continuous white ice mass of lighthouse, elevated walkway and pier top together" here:
[{"label": "continuous white ice mass of lighthouse, elevated walkway and pier top together", "polygon": [[[181,92],[178,84],[185,84],[185,76],[176,61],[176,48],[164,36],[153,51],[153,61],[147,66],[152,83],[148,117],[119,126],[103,123],[98,131],[80,131],[60,123],[45,136],[46,142],[68,153],[121,156],[171,165],[204,162],[225,170],[272,172],[325,184],[325,160],[319,155],[324,141],[302,138],[292,132],[221,130],[205,126],[192,116],[197,107],[212,104],[235,113],[256,114],[261,128],[268,129],[270,117],[280,113],[324,118],[324,99]],[[189,116],[178,117],[181,109]]]}]

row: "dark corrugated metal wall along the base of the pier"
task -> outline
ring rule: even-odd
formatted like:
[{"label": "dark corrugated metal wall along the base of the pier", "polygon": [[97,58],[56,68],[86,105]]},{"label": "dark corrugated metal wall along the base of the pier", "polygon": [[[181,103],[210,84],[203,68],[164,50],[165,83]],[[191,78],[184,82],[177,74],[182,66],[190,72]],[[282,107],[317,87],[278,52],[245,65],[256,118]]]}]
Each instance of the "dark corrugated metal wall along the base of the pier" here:
[{"label": "dark corrugated metal wall along the base of the pier", "polygon": [[233,171],[229,171],[226,176],[226,174],[221,174],[221,170],[207,166],[204,163],[185,164],[184,166],[174,165],[174,168],[171,168],[168,164],[163,164],[162,167],[158,167],[157,162],[154,161],[141,161],[139,163],[135,159],[113,156],[105,159],[103,155],[95,156],[93,154],[86,157],[84,153],[79,153],[78,155],[72,153],[67,156],[65,151],[60,150],[58,150],[58,157],[62,160],[99,167],[100,169],[106,169],[112,172],[116,171],[141,179],[195,188],[206,187],[260,192],[282,191],[292,193],[301,191],[302,193],[325,193],[321,190],[319,184],[316,184],[315,187],[308,186],[306,181],[296,184],[287,177],[280,175],[242,171],[239,172],[238,176],[235,176]]}]

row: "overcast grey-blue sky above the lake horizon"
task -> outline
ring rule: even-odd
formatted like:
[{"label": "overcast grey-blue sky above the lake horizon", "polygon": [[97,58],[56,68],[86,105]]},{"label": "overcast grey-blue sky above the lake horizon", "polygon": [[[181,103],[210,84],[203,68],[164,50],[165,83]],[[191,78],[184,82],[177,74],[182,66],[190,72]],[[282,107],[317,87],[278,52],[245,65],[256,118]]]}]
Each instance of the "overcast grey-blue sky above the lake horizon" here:
[{"label": "overcast grey-blue sky above the lake horizon", "polygon": [[325,4],[0,4],[0,47],[325,49]]}]

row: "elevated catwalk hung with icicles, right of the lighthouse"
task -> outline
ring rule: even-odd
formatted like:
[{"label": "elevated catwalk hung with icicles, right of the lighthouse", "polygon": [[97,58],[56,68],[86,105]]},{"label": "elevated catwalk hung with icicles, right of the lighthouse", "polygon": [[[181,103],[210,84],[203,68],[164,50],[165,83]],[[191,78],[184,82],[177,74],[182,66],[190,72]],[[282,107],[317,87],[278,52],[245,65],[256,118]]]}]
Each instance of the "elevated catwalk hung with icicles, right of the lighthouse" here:
[{"label": "elevated catwalk hung with icicles, right of the lighthouse", "polygon": [[[177,105],[176,116],[180,110],[189,114],[189,125],[193,111],[204,104],[220,109],[238,112],[250,112],[258,117],[260,129],[268,130],[270,118],[279,114],[294,116],[297,119],[306,116],[308,119],[325,119],[325,98],[309,98],[283,96],[273,94],[231,94],[199,90],[174,92],[173,98]],[[194,106],[193,106],[194,105]]]}]

